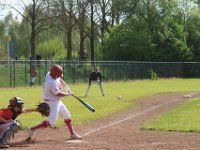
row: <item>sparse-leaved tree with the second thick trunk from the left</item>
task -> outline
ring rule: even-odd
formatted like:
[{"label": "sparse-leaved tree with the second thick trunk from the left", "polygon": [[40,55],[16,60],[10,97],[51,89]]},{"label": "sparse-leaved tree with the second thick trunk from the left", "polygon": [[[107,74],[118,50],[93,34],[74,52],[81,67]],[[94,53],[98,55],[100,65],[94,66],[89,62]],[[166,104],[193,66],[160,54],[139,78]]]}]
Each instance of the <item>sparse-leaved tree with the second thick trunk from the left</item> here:
[{"label": "sparse-leaved tree with the second thick trunk from the left", "polygon": [[63,33],[63,42],[66,49],[66,59],[72,59],[73,31],[77,26],[77,10],[75,0],[45,0],[48,3],[47,11],[51,16],[51,24]]}]

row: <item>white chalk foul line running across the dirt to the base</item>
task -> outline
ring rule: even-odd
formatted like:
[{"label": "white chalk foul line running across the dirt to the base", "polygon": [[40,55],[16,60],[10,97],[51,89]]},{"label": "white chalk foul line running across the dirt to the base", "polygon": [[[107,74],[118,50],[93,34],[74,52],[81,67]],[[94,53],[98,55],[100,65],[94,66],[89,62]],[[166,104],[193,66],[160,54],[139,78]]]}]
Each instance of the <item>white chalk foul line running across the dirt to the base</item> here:
[{"label": "white chalk foul line running across the dirt to the base", "polygon": [[[196,93],[198,93],[198,92],[193,92],[193,93],[190,93],[189,95],[193,96],[193,95],[195,95]],[[147,112],[150,112],[150,111],[155,110],[155,109],[157,109],[157,108],[159,108],[159,107],[162,107],[162,106],[167,105],[167,104],[170,104],[170,103],[174,103],[174,102],[179,101],[179,100],[180,100],[180,98],[177,98],[177,99],[174,99],[174,100],[172,100],[172,101],[170,101],[170,102],[164,102],[164,103],[159,104],[159,105],[157,105],[157,106],[153,106],[153,107],[151,107],[151,108],[149,108],[149,109],[147,109],[147,110],[145,110],[145,111],[142,111],[142,112],[140,112],[140,113],[131,115],[131,116],[127,117],[127,118],[121,119],[121,120],[119,120],[119,121],[116,121],[116,122],[107,124],[107,125],[105,125],[105,126],[102,126],[102,127],[97,128],[97,129],[94,129],[94,130],[92,130],[92,131],[89,131],[89,132],[87,132],[87,133],[84,133],[83,136],[87,136],[87,135],[90,135],[90,134],[92,134],[92,133],[98,132],[98,131],[100,131],[100,130],[102,130],[102,129],[105,129],[105,128],[114,126],[114,125],[116,125],[116,124],[122,123],[122,122],[124,122],[124,121],[127,121],[127,120],[129,120],[129,119],[135,118],[135,117],[137,117],[137,116],[143,115],[143,114],[145,114],[145,113],[147,113]]]}]

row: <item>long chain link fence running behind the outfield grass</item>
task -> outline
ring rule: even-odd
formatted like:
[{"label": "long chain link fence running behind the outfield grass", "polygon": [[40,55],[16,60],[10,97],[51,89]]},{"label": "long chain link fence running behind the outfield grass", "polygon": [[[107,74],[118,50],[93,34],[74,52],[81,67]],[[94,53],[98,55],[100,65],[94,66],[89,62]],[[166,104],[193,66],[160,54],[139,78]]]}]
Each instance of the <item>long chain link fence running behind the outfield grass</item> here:
[{"label": "long chain link fence running behind the outfield grass", "polygon": [[34,85],[42,85],[53,64],[63,67],[67,83],[88,82],[95,66],[100,67],[102,80],[128,81],[158,78],[199,78],[199,62],[134,62],[134,61],[0,61],[0,87],[31,86],[31,69],[37,72]]}]

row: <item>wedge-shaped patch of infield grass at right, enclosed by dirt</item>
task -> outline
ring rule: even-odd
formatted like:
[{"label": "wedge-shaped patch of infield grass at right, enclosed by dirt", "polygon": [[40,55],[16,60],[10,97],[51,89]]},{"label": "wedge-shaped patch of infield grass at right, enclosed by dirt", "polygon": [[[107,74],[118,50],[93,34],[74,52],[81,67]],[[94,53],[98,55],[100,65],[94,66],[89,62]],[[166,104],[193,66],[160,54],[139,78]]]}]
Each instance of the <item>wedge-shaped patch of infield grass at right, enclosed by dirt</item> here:
[{"label": "wedge-shaped patch of infield grass at right, enclosed by dirt", "polygon": [[200,101],[194,99],[143,126],[148,130],[200,132]]}]

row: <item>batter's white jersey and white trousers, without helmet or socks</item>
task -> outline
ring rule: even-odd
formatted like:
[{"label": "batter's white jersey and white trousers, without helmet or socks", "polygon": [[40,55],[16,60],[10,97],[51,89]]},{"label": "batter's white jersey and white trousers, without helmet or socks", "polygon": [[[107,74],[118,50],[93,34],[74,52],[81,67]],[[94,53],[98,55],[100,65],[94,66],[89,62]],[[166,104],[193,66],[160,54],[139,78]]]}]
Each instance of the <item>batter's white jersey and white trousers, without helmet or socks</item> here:
[{"label": "batter's white jersey and white trousers, without helmet or socks", "polygon": [[63,104],[61,97],[56,96],[62,90],[60,78],[53,79],[50,72],[46,74],[44,81],[44,101],[50,106],[50,115],[48,121],[50,125],[54,125],[58,116],[63,119],[70,119],[71,114],[66,106]]}]

